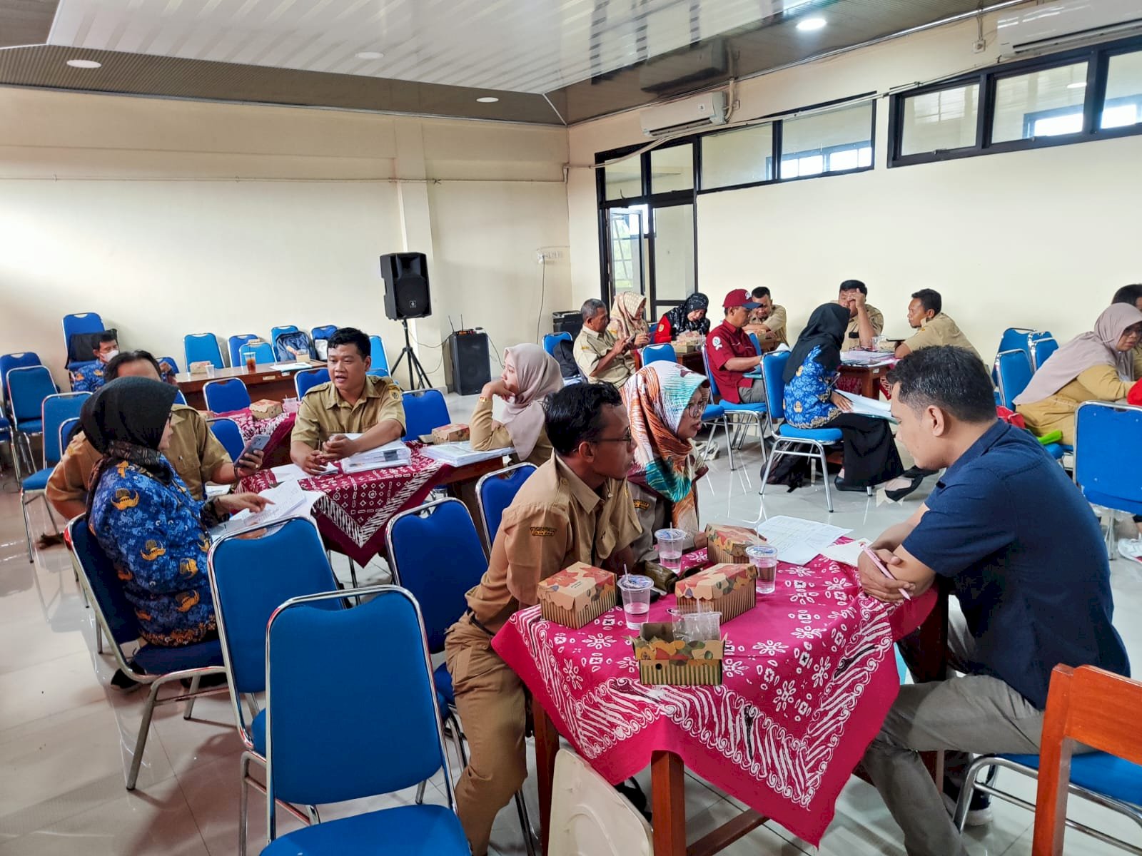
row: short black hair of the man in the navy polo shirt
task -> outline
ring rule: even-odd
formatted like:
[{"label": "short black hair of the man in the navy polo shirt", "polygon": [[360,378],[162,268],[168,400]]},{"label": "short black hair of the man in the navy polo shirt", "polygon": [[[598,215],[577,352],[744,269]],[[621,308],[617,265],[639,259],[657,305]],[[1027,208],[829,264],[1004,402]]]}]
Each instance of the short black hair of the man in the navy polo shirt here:
[{"label": "short black hair of the man in the navy polo shirt", "polygon": [[966,348],[941,345],[914,350],[888,372],[888,382],[900,385],[893,394],[912,410],[934,404],[962,422],[996,419],[991,377]]}]

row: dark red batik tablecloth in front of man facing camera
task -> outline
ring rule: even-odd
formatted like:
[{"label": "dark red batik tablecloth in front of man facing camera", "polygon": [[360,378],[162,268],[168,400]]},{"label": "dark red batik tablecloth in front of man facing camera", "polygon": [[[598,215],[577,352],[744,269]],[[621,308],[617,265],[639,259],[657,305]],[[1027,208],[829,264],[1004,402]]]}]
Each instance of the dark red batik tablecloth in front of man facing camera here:
[{"label": "dark red batik tablecloth in front of man facing camera", "polygon": [[[384,548],[389,519],[419,506],[437,479],[451,470],[421,454],[419,443],[409,443],[409,447],[412,461],[407,467],[300,479],[303,488],[323,494],[313,506],[321,534],[360,565]],[[262,470],[242,479],[242,490],[257,493],[275,484],[273,474]]]}]

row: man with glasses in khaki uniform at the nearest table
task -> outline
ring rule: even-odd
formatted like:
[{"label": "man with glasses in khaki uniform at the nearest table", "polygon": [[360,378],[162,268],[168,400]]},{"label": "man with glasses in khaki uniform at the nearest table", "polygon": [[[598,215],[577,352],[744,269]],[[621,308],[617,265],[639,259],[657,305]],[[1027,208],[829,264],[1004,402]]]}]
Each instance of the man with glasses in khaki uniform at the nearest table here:
[{"label": "man with glasses in khaki uniform at the nearest table", "polygon": [[620,572],[633,566],[630,544],[641,531],[625,481],[634,441],[619,390],[574,383],[555,393],[547,436],[555,454],[504,512],[488,571],[445,644],[468,737],[456,801],[473,856],[488,853],[497,813],[528,776],[523,685],[492,651],[492,636],[516,609],[537,603],[540,580],[576,562]]}]

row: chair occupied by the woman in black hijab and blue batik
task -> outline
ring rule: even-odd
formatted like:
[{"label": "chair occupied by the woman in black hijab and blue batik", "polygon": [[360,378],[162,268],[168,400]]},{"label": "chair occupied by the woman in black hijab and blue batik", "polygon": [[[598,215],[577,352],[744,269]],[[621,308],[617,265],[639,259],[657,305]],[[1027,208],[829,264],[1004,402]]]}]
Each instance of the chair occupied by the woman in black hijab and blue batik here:
[{"label": "chair occupied by the woman in black hijab and blue batik", "polygon": [[[123,593],[123,584],[119,581],[114,565],[87,527],[87,515],[80,515],[67,525],[67,536],[79,570],[83,574],[83,586],[95,607],[96,622],[104,637],[111,641],[115,664],[123,675],[151,687],[143,706],[143,721],[139,724],[138,736],[135,738],[131,766],[127,773],[127,790],[134,791],[155,706],[185,701],[183,718],[190,719],[195,697],[226,692],[225,687],[201,691],[199,688],[199,681],[203,677],[226,671],[223,665],[222,643],[210,639],[177,648],[144,645],[135,653],[134,659],[128,660],[123,646],[138,641],[139,625],[135,617],[135,607]],[[186,693],[159,698],[161,687],[176,684],[184,678],[191,681],[191,688]]]}]

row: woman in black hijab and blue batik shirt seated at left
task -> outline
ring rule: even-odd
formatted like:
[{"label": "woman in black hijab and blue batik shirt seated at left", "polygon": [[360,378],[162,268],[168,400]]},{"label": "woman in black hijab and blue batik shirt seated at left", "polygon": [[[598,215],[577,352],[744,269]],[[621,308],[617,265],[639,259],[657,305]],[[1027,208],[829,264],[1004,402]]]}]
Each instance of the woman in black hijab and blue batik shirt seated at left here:
[{"label": "woman in black hijab and blue batik shirt seated at left", "polygon": [[207,576],[208,527],[267,500],[239,493],[195,500],[163,457],[177,389],[148,378],[112,380],[83,404],[80,423],[103,455],[91,476],[88,527],[111,559],[151,645],[193,645],[217,632]]}]

